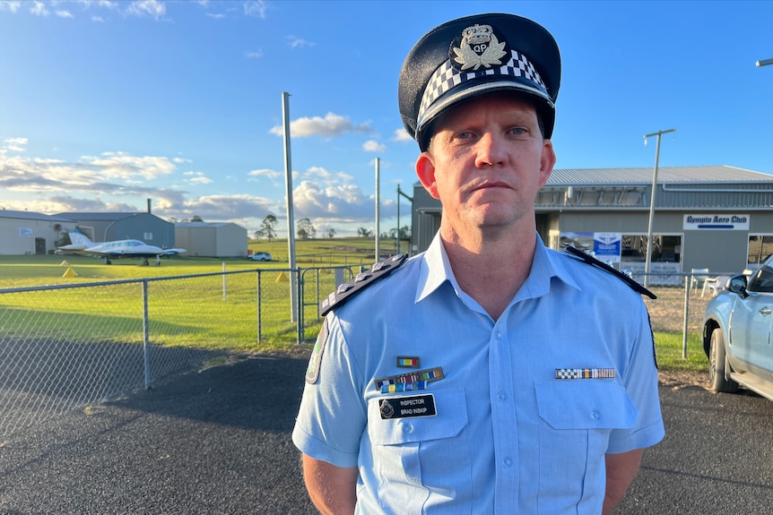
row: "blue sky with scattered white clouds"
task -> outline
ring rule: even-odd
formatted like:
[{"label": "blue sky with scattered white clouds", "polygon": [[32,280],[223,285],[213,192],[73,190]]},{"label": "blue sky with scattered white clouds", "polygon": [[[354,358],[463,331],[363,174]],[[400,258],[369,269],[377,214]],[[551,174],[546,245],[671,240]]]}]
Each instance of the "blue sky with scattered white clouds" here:
[{"label": "blue sky with scattered white clouds", "polygon": [[[382,232],[418,155],[404,56],[443,21],[510,12],[558,40],[557,168],[730,165],[773,173],[773,3],[0,1],[0,209],[138,211],[285,230]],[[400,225],[409,225],[410,205]],[[282,232],[282,234],[284,234]]]}]

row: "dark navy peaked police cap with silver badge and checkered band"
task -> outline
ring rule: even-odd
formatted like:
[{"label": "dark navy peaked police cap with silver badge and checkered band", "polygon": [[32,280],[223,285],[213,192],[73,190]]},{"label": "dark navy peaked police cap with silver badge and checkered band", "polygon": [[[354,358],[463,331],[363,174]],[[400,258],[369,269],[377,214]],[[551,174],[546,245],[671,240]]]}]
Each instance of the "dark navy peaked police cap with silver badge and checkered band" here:
[{"label": "dark navy peaked police cap with silver badge and checkered band", "polygon": [[405,58],[400,116],[427,150],[430,124],[448,107],[483,93],[520,91],[534,102],[550,138],[559,86],[559,47],[541,25],[515,14],[467,16],[430,30]]}]

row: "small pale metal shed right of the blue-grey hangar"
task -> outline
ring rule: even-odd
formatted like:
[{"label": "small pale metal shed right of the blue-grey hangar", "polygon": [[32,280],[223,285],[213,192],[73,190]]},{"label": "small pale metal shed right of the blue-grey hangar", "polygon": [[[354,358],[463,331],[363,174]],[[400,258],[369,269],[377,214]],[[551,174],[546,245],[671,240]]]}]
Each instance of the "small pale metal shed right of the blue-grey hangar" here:
[{"label": "small pale metal shed right of the blue-grey hangar", "polygon": [[178,222],[175,241],[188,256],[247,257],[247,229],[230,222]]}]

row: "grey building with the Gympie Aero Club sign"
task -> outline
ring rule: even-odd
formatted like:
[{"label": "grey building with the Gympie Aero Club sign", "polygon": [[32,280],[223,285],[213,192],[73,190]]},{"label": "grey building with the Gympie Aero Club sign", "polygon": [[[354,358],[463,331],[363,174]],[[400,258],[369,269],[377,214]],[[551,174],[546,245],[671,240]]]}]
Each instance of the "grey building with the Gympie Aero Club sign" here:
[{"label": "grey building with the Gympie Aero Club sign", "polygon": [[[653,168],[556,169],[534,209],[545,245],[593,249],[615,268],[645,271]],[[440,203],[413,186],[412,251],[430,245]],[[659,167],[651,272],[756,268],[773,253],[773,175],[730,166]]]}]

